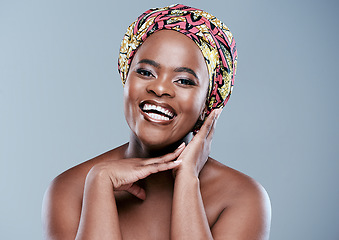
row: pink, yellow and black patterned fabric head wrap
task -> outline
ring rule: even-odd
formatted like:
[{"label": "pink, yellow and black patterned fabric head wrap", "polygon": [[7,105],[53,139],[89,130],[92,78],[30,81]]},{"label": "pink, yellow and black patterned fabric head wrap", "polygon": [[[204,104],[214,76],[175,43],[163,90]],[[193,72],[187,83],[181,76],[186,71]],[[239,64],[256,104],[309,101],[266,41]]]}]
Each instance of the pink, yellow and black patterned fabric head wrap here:
[{"label": "pink, yellow and black patterned fabric head wrap", "polygon": [[207,114],[227,103],[234,85],[237,50],[233,35],[219,19],[200,9],[176,4],[152,8],[133,22],[121,42],[118,70],[125,84],[137,48],[162,29],[185,34],[200,48],[209,73]]}]

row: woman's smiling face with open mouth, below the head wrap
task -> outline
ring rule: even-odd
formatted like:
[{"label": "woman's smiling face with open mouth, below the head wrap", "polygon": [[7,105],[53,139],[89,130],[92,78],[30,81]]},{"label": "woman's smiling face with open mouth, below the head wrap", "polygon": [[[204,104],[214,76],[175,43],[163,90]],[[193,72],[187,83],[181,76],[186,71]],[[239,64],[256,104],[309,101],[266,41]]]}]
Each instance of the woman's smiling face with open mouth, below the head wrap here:
[{"label": "woman's smiling face with open mouth, below the head wrap", "polygon": [[152,34],[136,52],[124,87],[127,123],[148,147],[184,138],[202,114],[208,70],[199,47],[173,30]]}]

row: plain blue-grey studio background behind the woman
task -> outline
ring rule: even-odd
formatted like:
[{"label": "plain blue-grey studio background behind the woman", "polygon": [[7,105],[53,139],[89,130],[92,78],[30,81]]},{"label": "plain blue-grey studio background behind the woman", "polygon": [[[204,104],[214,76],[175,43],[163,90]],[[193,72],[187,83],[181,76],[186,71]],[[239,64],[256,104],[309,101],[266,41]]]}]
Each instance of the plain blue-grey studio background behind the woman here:
[{"label": "plain blue-grey studio background behind the woman", "polygon": [[[257,179],[271,239],[339,239],[338,2],[181,1],[238,47],[211,155]],[[62,171],[128,140],[117,73],[127,26],[172,1],[0,1],[0,239],[42,239]]]}]

